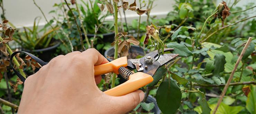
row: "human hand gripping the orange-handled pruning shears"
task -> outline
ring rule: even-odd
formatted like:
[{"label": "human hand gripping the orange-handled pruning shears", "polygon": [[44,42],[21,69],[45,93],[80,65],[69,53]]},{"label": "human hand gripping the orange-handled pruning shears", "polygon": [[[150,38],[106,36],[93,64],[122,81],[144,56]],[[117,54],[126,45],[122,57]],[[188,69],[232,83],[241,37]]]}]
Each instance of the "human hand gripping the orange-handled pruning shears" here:
[{"label": "human hand gripping the orange-handled pruning shears", "polygon": [[97,87],[101,76],[94,76],[94,65],[108,63],[96,49],[75,51],[53,58],[29,76],[18,113],[23,114],[124,114],[144,98],[141,90],[124,96],[104,94]]}]

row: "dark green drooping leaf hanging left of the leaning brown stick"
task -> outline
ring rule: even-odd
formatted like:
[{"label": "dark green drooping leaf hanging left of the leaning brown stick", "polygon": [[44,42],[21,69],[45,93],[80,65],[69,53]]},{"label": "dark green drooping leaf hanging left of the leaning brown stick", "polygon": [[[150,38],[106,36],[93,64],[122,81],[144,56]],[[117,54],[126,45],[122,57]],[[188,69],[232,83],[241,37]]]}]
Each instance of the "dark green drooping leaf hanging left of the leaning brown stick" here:
[{"label": "dark green drooping leaf hanging left of the leaning brown stick", "polygon": [[222,54],[216,54],[214,56],[214,70],[213,76],[220,77],[220,72],[224,71],[224,65],[226,64],[225,56]]}]

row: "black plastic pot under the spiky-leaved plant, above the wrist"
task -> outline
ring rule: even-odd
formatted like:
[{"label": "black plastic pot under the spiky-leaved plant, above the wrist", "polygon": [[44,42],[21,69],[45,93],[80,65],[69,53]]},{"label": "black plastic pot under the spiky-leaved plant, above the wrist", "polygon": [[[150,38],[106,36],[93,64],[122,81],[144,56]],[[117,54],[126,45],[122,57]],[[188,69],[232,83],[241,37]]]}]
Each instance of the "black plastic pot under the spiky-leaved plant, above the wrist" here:
[{"label": "black plastic pot under the spiky-leaved plant, above the wrist", "polygon": [[22,51],[27,51],[31,54],[36,55],[38,58],[42,59],[45,62],[49,62],[52,58],[54,58],[54,53],[56,52],[56,49],[58,46],[60,46],[60,42],[56,42],[55,45],[43,49],[34,49],[34,50],[28,50],[28,49],[22,49]]}]

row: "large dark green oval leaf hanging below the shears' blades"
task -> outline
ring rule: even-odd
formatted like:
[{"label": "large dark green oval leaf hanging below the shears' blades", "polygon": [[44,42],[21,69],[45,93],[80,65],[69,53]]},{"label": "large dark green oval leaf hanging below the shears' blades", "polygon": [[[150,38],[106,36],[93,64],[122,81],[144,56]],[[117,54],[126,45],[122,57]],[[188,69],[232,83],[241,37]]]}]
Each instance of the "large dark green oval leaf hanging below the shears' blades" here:
[{"label": "large dark green oval leaf hanging below the shears' blades", "polygon": [[164,114],[174,114],[181,105],[181,89],[174,80],[166,79],[158,87],[156,101]]}]

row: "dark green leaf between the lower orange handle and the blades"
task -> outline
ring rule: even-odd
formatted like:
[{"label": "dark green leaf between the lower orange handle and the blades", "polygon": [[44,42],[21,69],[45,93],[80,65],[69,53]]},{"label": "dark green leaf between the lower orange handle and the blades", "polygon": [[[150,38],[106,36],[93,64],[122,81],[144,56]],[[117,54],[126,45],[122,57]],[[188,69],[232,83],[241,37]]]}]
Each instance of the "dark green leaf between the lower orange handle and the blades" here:
[{"label": "dark green leaf between the lower orange handle and the blades", "polygon": [[166,74],[167,70],[163,67],[160,67],[156,70],[156,73],[154,74],[153,78],[153,82],[149,83],[147,86],[148,87],[151,87],[151,86],[154,86],[156,85],[159,80]]}]

